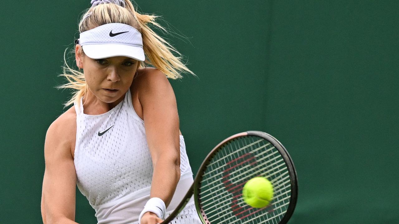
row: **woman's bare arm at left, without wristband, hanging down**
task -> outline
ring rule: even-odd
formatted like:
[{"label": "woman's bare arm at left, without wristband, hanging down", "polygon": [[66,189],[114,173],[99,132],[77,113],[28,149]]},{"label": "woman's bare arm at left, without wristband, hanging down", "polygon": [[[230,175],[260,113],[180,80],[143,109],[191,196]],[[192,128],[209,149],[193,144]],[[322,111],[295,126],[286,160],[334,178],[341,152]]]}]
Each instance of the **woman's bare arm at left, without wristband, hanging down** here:
[{"label": "woman's bare arm at left, without wristband, hanging down", "polygon": [[41,214],[44,224],[76,224],[76,172],[69,140],[74,122],[63,114],[48,128],[44,143],[45,172],[43,177]]}]

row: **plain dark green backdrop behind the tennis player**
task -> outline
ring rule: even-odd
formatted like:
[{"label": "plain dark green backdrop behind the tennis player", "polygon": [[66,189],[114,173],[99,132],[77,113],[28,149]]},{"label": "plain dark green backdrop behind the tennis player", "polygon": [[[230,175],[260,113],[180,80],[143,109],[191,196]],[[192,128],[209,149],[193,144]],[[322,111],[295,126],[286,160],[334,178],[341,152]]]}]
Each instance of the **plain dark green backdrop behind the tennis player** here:
[{"label": "plain dark green backdrop behind the tennis player", "polygon": [[[2,4],[0,224],[41,222],[45,133],[70,96],[54,86],[89,2]],[[137,3],[198,75],[171,81],[194,172],[219,141],[262,130],[297,169],[290,224],[399,223],[397,1]],[[76,221],[96,223],[79,191]]]}]

